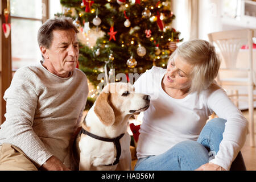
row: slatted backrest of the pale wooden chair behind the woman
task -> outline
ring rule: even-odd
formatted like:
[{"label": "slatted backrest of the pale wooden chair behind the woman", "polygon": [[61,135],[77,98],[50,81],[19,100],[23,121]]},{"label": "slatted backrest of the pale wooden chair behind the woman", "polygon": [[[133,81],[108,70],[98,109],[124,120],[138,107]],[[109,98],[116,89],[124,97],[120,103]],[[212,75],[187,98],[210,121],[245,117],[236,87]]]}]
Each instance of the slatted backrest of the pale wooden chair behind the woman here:
[{"label": "slatted backrest of the pale wooden chair behind the woman", "polygon": [[213,32],[208,34],[209,41],[215,43],[220,49],[221,55],[225,61],[227,69],[237,68],[237,55],[243,45],[249,47],[249,56],[247,60],[247,71],[251,80],[253,78],[253,34],[256,36],[256,30],[243,29],[232,31]]}]

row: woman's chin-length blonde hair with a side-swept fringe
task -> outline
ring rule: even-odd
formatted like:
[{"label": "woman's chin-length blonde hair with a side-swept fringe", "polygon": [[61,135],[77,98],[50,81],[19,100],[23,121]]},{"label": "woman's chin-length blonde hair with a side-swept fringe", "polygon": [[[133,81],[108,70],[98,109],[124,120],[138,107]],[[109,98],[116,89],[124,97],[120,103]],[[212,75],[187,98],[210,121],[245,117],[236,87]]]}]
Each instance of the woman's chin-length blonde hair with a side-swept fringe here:
[{"label": "woman's chin-length blonde hair with a side-swept fringe", "polygon": [[220,59],[214,46],[205,40],[194,39],[181,44],[169,60],[176,54],[186,63],[193,65],[189,92],[201,92],[208,89],[217,77],[220,68]]}]

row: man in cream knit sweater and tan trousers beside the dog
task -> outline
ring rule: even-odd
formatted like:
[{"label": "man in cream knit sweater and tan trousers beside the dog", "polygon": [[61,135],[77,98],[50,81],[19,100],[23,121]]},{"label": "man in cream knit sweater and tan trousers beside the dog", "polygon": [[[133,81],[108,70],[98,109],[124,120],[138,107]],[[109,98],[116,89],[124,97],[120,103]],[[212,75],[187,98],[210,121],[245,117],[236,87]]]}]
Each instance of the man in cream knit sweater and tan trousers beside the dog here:
[{"label": "man in cream knit sweater and tan trousers beside the dog", "polygon": [[0,170],[69,170],[69,146],[88,96],[86,76],[76,69],[77,32],[64,17],[40,27],[44,61],[18,69],[3,97]]}]

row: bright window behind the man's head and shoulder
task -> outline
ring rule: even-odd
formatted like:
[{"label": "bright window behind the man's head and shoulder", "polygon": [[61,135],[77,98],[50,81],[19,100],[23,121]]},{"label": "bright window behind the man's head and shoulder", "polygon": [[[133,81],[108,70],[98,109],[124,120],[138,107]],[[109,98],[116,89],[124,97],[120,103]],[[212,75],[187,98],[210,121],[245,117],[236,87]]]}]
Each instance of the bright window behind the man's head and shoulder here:
[{"label": "bright window behind the man's head and shoulder", "polygon": [[[44,3],[45,2],[45,3]],[[13,71],[42,59],[37,41],[43,15],[54,18],[61,12],[56,0],[10,0],[11,11],[11,57]]]}]

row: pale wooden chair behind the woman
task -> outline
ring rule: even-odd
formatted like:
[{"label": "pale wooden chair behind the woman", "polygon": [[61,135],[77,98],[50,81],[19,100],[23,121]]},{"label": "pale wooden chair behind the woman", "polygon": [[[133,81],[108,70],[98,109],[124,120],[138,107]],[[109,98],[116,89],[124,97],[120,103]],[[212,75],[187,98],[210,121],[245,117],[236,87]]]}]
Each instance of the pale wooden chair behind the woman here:
[{"label": "pale wooden chair behind the woman", "polygon": [[[238,100],[240,100],[241,94],[238,93],[238,89],[241,87],[247,87],[248,94],[247,101],[249,107],[249,135],[250,146],[254,147],[254,97],[253,90],[255,89],[255,75],[253,69],[253,34],[256,36],[256,30],[244,29],[244,30],[232,30],[213,32],[208,34],[209,41],[220,49],[222,60],[224,60],[225,68],[221,68],[217,82],[224,89],[235,90],[235,94],[230,94],[229,97],[238,106]],[[243,65],[237,67],[237,55],[242,45],[248,45],[249,51],[248,59],[242,60]],[[223,74],[226,72],[226,75]],[[222,75],[221,75],[222,73]],[[243,96],[245,96],[243,94]]]}]

